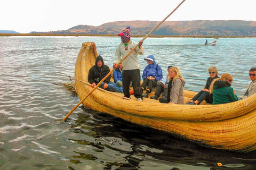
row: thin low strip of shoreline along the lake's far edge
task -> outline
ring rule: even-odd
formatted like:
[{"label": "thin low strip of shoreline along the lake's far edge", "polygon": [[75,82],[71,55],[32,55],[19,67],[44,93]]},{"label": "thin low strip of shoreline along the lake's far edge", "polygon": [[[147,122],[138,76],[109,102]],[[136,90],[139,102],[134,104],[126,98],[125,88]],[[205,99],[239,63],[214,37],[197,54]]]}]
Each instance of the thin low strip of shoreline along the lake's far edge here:
[{"label": "thin low strip of shoreline along the lake's far edge", "polygon": [[[11,36],[70,36],[70,37],[118,37],[117,35],[92,35],[92,34],[66,34],[66,33],[0,33],[0,37]],[[132,35],[131,37],[145,37],[146,35]],[[189,35],[150,35],[151,38],[256,38],[256,36],[189,36]]]}]

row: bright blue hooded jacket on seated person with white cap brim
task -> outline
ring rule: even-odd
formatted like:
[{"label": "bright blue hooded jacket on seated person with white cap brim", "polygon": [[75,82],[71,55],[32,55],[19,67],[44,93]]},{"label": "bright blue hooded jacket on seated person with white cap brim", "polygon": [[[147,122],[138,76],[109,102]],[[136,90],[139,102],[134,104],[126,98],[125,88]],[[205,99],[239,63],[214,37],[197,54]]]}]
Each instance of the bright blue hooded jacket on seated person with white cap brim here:
[{"label": "bright blue hooded jacket on seated person with white cap brim", "polygon": [[153,64],[148,64],[142,74],[142,79],[144,80],[145,78],[149,76],[154,76],[156,81],[161,80],[163,78],[163,71],[161,66],[156,64],[155,62],[155,57],[153,55],[149,55],[147,58],[151,58],[154,62]]}]

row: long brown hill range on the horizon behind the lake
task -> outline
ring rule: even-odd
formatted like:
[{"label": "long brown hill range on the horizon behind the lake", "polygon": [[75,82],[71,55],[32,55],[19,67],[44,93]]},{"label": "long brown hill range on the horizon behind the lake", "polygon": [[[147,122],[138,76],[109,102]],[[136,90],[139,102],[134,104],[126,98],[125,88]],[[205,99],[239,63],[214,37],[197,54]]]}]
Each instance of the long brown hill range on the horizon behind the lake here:
[{"label": "long brown hill range on the horizon behind the lake", "polygon": [[[116,21],[104,23],[98,27],[77,25],[68,30],[44,33],[78,33],[94,35],[116,35],[127,25],[132,35],[146,35],[160,21]],[[38,32],[42,33],[42,32]],[[152,35],[185,35],[185,36],[256,36],[256,21],[241,20],[197,20],[197,21],[165,21]]]}]

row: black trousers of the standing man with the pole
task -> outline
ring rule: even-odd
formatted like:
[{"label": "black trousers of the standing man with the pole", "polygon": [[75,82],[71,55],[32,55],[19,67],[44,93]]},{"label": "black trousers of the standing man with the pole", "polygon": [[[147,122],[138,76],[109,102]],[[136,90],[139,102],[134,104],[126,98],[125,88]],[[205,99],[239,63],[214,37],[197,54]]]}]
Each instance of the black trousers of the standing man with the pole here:
[{"label": "black trousers of the standing man with the pole", "polygon": [[142,98],[140,91],[140,69],[135,70],[124,70],[123,71],[123,91],[124,97],[130,97],[130,83],[132,81],[132,87],[134,90],[135,98]]}]

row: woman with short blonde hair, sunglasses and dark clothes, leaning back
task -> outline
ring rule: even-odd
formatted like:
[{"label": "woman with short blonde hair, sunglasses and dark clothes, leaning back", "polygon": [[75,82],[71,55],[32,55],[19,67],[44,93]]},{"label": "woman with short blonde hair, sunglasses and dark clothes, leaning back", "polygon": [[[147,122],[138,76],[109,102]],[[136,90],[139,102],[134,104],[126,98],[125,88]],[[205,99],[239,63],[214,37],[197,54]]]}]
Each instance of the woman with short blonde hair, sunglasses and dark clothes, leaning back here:
[{"label": "woman with short blonde hair, sunglasses and dark clothes, leaning back", "polygon": [[202,89],[196,96],[194,96],[186,105],[199,105],[202,101],[212,104],[212,95],[209,94],[209,88],[214,79],[218,77],[218,70],[215,66],[209,67],[208,72],[210,77],[207,79],[204,89]]}]

